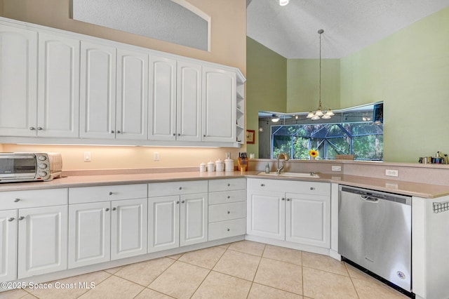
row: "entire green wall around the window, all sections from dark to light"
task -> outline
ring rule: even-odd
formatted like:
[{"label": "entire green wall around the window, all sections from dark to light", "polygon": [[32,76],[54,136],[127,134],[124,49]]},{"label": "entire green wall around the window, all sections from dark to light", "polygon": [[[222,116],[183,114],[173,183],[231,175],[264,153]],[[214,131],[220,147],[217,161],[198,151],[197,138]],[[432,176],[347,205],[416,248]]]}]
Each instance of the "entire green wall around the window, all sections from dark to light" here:
[{"label": "entire green wall around the window, all sections from dark to light", "polygon": [[[383,100],[384,161],[417,162],[437,151],[449,153],[448,32],[449,8],[444,8],[345,58],[323,60],[323,105],[338,109]],[[259,110],[316,109],[318,60],[286,60],[247,42],[248,129],[257,128]],[[261,65],[270,67],[261,70]],[[286,84],[270,82],[271,68],[279,81],[286,68]],[[248,146],[248,152],[257,153],[255,147]]]}]

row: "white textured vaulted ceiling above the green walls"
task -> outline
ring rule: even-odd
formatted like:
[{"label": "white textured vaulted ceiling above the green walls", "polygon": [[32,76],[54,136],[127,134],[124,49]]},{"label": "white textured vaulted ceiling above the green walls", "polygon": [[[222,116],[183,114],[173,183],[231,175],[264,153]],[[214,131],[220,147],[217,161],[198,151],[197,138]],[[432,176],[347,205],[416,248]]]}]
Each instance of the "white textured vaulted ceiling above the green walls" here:
[{"label": "white textured vaulted ceiling above the green walls", "polygon": [[246,34],[285,58],[342,58],[449,6],[449,0],[247,0]]}]

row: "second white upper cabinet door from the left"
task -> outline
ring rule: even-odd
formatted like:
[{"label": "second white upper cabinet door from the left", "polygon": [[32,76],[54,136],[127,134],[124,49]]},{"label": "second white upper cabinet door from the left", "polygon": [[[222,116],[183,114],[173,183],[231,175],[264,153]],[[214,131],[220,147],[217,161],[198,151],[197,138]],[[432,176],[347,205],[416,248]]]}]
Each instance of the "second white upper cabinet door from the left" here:
[{"label": "second white upper cabinet door from the left", "polygon": [[38,135],[79,135],[79,41],[39,33]]}]

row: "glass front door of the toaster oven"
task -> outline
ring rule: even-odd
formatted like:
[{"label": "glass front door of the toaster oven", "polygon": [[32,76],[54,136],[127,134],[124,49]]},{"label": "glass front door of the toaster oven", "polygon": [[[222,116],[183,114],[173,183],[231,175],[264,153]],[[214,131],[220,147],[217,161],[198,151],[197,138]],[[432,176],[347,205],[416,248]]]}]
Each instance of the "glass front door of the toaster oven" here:
[{"label": "glass front door of the toaster oven", "polygon": [[0,182],[32,180],[36,177],[34,154],[0,154]]}]

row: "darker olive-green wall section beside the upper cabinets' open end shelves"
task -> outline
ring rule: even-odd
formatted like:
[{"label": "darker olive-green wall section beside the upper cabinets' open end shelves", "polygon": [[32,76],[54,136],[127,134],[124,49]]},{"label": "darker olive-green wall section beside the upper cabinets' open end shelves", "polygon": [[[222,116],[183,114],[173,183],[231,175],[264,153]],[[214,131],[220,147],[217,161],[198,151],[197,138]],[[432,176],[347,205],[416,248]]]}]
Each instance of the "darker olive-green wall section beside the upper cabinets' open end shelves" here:
[{"label": "darker olive-green wall section beside the upper cabinets' open end shelves", "polygon": [[259,111],[285,112],[287,109],[287,59],[246,38],[246,128],[256,131],[249,153],[258,157]]}]

